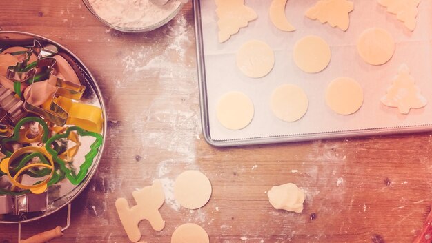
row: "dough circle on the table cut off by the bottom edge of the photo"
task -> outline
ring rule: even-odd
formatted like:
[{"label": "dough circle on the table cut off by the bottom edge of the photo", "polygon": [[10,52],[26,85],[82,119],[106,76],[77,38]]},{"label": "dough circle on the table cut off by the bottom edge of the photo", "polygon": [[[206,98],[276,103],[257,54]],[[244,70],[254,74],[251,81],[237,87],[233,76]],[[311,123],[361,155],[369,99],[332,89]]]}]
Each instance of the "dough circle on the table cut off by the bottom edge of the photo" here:
[{"label": "dough circle on the table cut off by the bottom edge of the photo", "polygon": [[208,234],[202,226],[187,223],[181,224],[171,236],[171,243],[209,243]]}]

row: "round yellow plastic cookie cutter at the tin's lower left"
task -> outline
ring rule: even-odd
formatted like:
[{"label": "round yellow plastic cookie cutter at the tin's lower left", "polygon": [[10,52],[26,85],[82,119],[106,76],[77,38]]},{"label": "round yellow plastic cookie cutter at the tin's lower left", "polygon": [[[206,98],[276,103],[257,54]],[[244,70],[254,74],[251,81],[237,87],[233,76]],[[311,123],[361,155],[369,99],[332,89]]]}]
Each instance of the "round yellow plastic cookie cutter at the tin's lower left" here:
[{"label": "round yellow plastic cookie cutter at the tin's lower left", "polygon": [[[9,171],[10,164],[14,161],[14,159],[17,159],[18,157],[20,157],[21,155],[24,155],[26,153],[41,153],[42,155],[44,155],[48,159],[50,164],[43,164],[43,163],[28,164],[28,165],[24,166],[23,168],[21,168],[21,170],[19,170],[14,175],[14,177],[12,177],[12,175],[10,175],[10,171]],[[46,177],[46,179],[44,179],[42,182],[39,182],[38,184],[26,185],[26,184],[21,184],[20,182],[17,181],[18,177],[24,171],[26,171],[30,168],[34,168],[34,167],[50,168],[51,173],[50,173],[50,175],[48,175]],[[52,161],[51,155],[46,151],[45,148],[39,148],[39,147],[19,148],[10,157],[3,159],[1,161],[0,169],[1,169],[1,171],[3,171],[3,173],[6,173],[6,175],[8,175],[8,178],[10,179],[10,182],[13,185],[12,190],[14,189],[15,186],[17,186],[17,187],[25,189],[25,190],[30,190],[32,193],[35,193],[35,194],[41,194],[46,190],[46,188],[48,187],[47,184],[50,181],[50,179],[52,178],[52,175],[54,175],[54,171],[55,171],[54,162]]]}]

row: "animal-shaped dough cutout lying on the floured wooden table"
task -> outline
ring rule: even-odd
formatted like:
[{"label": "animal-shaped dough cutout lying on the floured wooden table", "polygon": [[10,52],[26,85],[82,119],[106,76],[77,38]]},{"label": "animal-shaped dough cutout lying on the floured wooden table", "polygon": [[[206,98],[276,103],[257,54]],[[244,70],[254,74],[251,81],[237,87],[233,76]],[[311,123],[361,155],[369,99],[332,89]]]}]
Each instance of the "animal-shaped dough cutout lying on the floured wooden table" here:
[{"label": "animal-shaped dough cutout lying on the floured wooden table", "polygon": [[139,191],[133,191],[132,196],[137,205],[129,208],[125,198],[115,201],[115,208],[119,214],[121,224],[132,242],[137,242],[141,238],[138,223],[141,220],[148,220],[155,231],[161,231],[165,227],[165,222],[159,213],[159,208],[164,204],[165,195],[161,181],[155,180],[152,186],[146,186]]}]

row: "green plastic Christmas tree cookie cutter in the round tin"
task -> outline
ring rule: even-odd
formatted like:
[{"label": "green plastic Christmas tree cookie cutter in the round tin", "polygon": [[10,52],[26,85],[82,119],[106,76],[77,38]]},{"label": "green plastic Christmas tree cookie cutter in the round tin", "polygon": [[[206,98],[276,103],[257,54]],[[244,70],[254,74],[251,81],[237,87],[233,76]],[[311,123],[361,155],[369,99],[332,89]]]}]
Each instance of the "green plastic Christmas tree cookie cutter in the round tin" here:
[{"label": "green plastic Christmas tree cookie cutter in the round tin", "polygon": [[[72,170],[70,170],[70,168],[66,167],[66,162],[63,161],[63,159],[59,158],[58,152],[51,146],[51,144],[55,142],[57,139],[69,137],[69,134],[73,131],[76,131],[78,135],[80,135],[81,137],[95,137],[96,139],[95,142],[93,142],[90,145],[90,152],[88,152],[86,156],[84,156],[84,163],[81,164],[81,166],[79,166],[79,172],[76,175]],[[51,137],[50,139],[48,139],[48,141],[45,144],[45,148],[48,151],[48,153],[52,155],[52,159],[54,160],[54,162],[59,164],[60,170],[65,173],[70,183],[74,185],[78,185],[83,181],[84,177],[86,177],[88,168],[90,168],[90,166],[92,165],[93,159],[95,159],[97,153],[99,152],[99,147],[102,145],[102,142],[103,142],[102,135],[100,135],[99,133],[89,132],[78,126],[70,126],[68,127],[68,129],[66,129],[65,133],[57,134]]]}]

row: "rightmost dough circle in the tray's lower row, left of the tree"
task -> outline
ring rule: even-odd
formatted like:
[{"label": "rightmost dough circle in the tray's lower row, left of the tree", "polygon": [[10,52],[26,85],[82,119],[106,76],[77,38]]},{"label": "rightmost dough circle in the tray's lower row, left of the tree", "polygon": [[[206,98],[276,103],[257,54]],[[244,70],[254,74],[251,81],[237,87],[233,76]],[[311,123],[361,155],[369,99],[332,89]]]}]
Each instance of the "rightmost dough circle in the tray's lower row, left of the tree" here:
[{"label": "rightmost dough circle in the tray's lower row, left of the tree", "polygon": [[327,106],[340,115],[355,113],[362,106],[363,99],[362,86],[348,77],[331,81],[326,90]]}]

